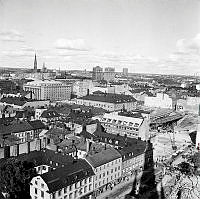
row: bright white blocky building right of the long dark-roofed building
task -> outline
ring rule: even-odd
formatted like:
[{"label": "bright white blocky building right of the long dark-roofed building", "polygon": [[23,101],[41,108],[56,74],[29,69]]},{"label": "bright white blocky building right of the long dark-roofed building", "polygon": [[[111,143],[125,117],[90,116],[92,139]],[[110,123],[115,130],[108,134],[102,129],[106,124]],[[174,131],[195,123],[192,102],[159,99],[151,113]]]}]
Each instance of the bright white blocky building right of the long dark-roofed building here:
[{"label": "bright white blocky building right of the long dark-roofed building", "polygon": [[156,108],[173,108],[172,98],[170,98],[169,95],[164,93],[157,93],[156,97],[146,96],[144,98],[144,105]]}]

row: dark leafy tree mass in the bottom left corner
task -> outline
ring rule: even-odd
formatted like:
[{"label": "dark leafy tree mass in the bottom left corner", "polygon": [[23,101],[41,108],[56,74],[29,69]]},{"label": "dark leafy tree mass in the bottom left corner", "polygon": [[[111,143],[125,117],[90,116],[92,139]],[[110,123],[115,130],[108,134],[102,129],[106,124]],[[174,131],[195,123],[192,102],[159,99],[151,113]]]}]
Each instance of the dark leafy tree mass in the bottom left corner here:
[{"label": "dark leafy tree mass in the bottom left corner", "polygon": [[0,190],[7,193],[9,199],[30,198],[30,181],[36,176],[32,162],[7,160],[0,167]]}]

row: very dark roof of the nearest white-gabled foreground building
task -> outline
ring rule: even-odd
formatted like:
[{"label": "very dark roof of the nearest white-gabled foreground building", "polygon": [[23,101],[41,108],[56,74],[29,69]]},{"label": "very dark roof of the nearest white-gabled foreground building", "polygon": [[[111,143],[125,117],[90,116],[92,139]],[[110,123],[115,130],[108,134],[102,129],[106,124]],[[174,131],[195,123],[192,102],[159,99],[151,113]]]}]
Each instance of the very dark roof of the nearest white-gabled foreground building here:
[{"label": "very dark roof of the nearest white-gabled foreground building", "polygon": [[85,160],[78,159],[62,168],[42,174],[41,178],[47,183],[49,192],[53,193],[93,175],[91,166]]}]

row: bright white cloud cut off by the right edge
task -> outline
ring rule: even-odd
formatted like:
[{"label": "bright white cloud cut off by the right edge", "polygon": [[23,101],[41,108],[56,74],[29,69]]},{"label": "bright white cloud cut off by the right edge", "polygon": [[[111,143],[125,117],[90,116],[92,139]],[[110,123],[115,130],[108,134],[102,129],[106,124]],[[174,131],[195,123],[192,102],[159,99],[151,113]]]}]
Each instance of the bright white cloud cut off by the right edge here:
[{"label": "bright white cloud cut off by the right edge", "polygon": [[176,43],[178,53],[200,53],[200,34],[191,39],[180,39]]}]

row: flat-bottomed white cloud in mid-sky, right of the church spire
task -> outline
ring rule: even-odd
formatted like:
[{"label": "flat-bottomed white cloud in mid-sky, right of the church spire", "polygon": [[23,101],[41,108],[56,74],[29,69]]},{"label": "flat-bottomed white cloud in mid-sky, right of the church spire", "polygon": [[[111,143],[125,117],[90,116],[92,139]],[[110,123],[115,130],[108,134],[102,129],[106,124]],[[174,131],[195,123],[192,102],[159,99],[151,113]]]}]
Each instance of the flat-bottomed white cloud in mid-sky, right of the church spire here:
[{"label": "flat-bottomed white cloud in mid-sky, right of the church spire", "polygon": [[56,49],[88,51],[89,47],[86,45],[84,39],[58,39],[54,43]]}]

